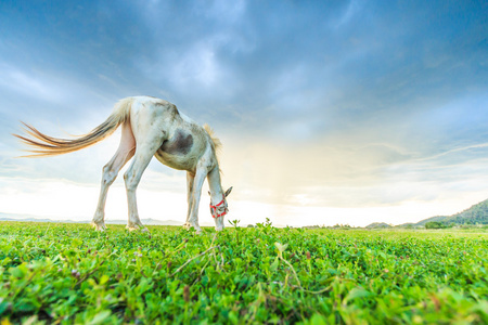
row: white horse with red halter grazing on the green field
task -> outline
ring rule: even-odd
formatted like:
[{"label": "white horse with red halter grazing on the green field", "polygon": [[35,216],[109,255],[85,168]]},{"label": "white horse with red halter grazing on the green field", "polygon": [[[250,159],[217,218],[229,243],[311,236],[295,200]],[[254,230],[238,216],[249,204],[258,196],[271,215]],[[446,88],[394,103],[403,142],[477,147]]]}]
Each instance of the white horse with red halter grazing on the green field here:
[{"label": "white horse with red halter grazing on the green field", "polygon": [[180,113],[174,104],[150,96],[124,99],[115,105],[114,112],[103,123],[88,134],[70,140],[52,138],[24,125],[25,132],[30,138],[13,135],[33,147],[28,152],[34,155],[27,157],[54,156],[86,148],[111,135],[121,125],[120,145],[114,157],[103,167],[100,197],[92,221],[95,230],[106,229],[104,210],[108,187],[124,165],[133,157],[124,174],[129,205],[127,227],[129,231],[147,231],[139,219],[136,190],[153,156],[166,166],[187,171],[188,213],[184,226],[193,226],[197,233],[201,232],[198,205],[202,185],[207,178],[215,227],[217,231],[223,229],[223,217],[229,211],[226,197],[232,187],[223,192],[220,183],[217,151],[221,143],[207,125],[198,126]]}]

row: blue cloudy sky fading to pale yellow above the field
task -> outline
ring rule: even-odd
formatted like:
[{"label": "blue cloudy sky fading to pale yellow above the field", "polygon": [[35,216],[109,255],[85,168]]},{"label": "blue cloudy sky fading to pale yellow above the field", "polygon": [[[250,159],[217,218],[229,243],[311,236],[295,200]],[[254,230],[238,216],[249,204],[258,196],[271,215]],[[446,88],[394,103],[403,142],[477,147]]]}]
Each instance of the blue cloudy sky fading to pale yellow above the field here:
[{"label": "blue cloudy sky fading to pale yellow above the field", "polygon": [[[39,159],[11,134],[84,134],[132,95],[213,127],[241,224],[462,211],[488,198],[487,17],[485,1],[3,0],[0,213],[91,220],[119,132]],[[106,220],[127,218],[121,173]],[[141,219],[183,223],[185,195],[185,173],[153,159]]]}]

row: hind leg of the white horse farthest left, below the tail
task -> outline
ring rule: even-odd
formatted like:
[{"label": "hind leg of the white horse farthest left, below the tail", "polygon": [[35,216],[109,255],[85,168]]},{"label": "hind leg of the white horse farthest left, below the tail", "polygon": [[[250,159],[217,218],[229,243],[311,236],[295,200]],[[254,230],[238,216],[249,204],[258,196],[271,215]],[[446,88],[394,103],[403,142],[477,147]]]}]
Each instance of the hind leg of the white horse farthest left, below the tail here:
[{"label": "hind leg of the white horse farthest left, below the tail", "polygon": [[97,205],[97,211],[93,216],[92,224],[95,230],[105,230],[105,203],[108,187],[117,178],[120,169],[127,161],[132,158],[136,152],[136,140],[130,128],[130,122],[127,121],[121,126],[120,144],[114,157],[103,167],[102,184],[100,188],[99,203]]}]

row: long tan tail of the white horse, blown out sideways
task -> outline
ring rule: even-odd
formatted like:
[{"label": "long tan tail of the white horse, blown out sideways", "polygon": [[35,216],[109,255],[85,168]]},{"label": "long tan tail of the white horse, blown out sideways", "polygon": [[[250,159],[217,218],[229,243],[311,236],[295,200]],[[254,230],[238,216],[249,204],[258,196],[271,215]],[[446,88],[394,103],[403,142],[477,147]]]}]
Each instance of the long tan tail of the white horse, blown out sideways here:
[{"label": "long tan tail of the white horse, blown out sideways", "polygon": [[115,105],[114,112],[103,123],[94,128],[88,134],[75,136],[74,139],[52,138],[41,133],[36,128],[25,122],[23,122],[26,127],[24,131],[30,136],[13,135],[31,147],[31,150],[27,150],[27,152],[33,153],[34,155],[24,157],[49,157],[73,153],[93,145],[114,133],[123,122],[129,119],[132,102],[133,100],[131,98],[119,101]]}]

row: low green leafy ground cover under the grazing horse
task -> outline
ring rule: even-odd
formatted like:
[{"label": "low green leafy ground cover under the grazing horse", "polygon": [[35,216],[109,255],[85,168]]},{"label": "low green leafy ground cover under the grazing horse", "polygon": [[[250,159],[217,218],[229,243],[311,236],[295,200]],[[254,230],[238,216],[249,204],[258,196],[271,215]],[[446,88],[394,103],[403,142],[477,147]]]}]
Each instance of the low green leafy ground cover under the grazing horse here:
[{"label": "low green leafy ground cover under the grazing horse", "polygon": [[0,323],[487,324],[488,234],[0,222]]}]

